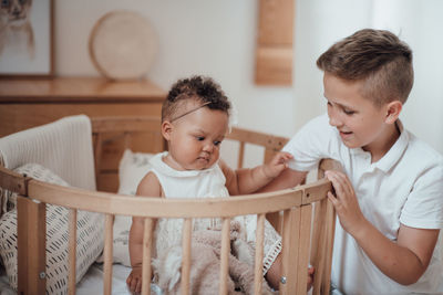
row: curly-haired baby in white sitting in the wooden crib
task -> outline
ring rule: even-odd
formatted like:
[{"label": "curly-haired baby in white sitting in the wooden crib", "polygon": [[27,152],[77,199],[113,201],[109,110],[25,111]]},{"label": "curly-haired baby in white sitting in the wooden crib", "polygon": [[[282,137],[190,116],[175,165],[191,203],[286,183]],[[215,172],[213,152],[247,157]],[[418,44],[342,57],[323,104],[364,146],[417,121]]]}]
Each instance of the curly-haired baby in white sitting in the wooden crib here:
[{"label": "curly-haired baby in white sitting in the wooden crib", "polygon": [[[136,196],[156,198],[215,198],[253,193],[287,168],[292,158],[278,152],[270,162],[253,169],[230,169],[219,159],[219,149],[229,130],[230,103],[210,78],[194,76],[181,80],[169,91],[162,108],[162,135],[168,151],[152,158],[152,170],[142,179]],[[245,217],[247,235],[254,240],[255,222]],[[158,220],[155,233],[157,256],[171,245],[181,243],[181,220]],[[219,225],[217,219],[196,219],[193,230]],[[142,286],[143,218],[133,218],[130,232],[132,272],[127,285],[132,292]],[[264,273],[279,277],[272,267],[281,249],[274,228],[265,225]],[[277,260],[278,262],[279,260]],[[277,282],[270,282],[278,287]]]}]

